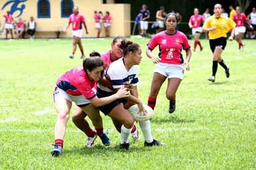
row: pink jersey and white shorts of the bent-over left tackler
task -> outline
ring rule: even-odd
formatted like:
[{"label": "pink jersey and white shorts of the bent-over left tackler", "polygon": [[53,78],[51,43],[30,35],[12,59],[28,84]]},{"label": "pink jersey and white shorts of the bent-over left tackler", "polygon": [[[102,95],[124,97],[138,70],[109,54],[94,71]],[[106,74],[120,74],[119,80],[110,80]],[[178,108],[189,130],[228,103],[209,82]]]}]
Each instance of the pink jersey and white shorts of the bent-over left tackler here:
[{"label": "pink jersey and white shorts of the bent-over left tackler", "polygon": [[79,107],[87,106],[95,94],[95,82],[91,81],[87,73],[80,65],[63,74],[54,88],[53,99],[55,97],[65,98]]}]

